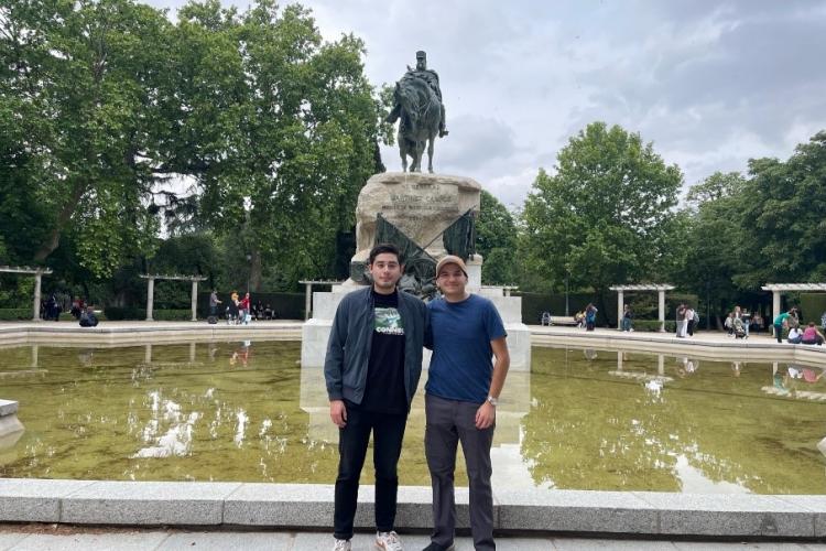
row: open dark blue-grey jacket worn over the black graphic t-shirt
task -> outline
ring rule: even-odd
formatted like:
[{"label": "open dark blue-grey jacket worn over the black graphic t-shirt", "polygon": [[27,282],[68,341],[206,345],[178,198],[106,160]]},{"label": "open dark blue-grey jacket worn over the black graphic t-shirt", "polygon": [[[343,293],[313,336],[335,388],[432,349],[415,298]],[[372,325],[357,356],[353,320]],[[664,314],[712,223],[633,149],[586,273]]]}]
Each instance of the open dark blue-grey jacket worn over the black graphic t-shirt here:
[{"label": "open dark blue-grey jacket worn over the black graphic t-shirt", "polygon": [[[399,291],[399,315],[404,326],[404,388],[410,410],[422,375],[422,346],[430,318],[424,302],[403,291]],[[324,359],[330,400],[361,403],[365,398],[373,316],[372,287],[348,293],[338,304]]]}]

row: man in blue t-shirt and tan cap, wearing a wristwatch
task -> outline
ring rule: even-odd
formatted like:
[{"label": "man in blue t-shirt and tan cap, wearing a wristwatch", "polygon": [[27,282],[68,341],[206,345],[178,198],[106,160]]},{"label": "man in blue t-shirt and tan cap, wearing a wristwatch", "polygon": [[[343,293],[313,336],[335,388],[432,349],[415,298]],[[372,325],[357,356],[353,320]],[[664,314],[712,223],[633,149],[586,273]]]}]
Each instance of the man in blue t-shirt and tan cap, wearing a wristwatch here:
[{"label": "man in blue t-shirt and tan cap, wearing a wristwatch", "polygon": [[[491,301],[466,291],[465,262],[436,264],[443,298],[432,301],[425,346],[433,357],[425,386],[424,449],[433,482],[433,534],[425,551],[452,549],[456,527],[454,471],[461,442],[470,483],[470,530],[477,550],[493,550],[490,446],[496,407],[510,366],[508,336]],[[496,356],[496,364],[491,357]]]}]

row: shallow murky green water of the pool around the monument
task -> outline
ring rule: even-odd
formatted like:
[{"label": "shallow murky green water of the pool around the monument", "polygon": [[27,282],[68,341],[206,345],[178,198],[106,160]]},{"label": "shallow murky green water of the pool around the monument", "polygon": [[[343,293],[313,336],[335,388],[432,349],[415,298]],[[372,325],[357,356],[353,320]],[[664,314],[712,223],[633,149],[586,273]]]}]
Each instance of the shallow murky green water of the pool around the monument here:
[{"label": "shallow murky green water of the pool around the monument", "polygon": [[[0,477],[330,484],[337,433],[322,369],[302,371],[300,353],[284,342],[1,349],[0,398],[20,402],[25,431],[0,439]],[[493,484],[826,494],[826,377],[791,368],[534,348],[499,407]],[[430,484],[421,395],[403,485]]]}]

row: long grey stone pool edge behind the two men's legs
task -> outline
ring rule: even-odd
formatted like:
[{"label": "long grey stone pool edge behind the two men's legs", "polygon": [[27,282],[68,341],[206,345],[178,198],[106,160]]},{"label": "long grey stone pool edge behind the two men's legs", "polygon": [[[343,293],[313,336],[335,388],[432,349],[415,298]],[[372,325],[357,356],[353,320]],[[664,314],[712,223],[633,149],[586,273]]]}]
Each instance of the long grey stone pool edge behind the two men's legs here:
[{"label": "long grey stone pool edge behind the two men's legs", "polygon": [[[333,485],[0,479],[0,522],[131,527],[328,528]],[[651,491],[494,490],[494,527],[509,532],[748,539],[826,538],[826,496]],[[369,529],[373,487],[359,493],[356,527]],[[468,525],[467,488],[457,490]],[[396,527],[427,530],[431,488],[399,488]]]}]

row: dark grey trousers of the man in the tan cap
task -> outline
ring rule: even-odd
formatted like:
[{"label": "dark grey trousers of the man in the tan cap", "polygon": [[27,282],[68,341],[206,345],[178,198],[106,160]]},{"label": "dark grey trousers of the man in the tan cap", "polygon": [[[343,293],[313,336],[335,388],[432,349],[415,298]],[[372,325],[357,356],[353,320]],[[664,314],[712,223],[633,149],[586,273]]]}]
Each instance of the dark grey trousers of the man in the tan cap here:
[{"label": "dark grey trousers of the man in the tan cap", "polygon": [[445,400],[425,396],[427,425],[424,433],[424,452],[433,482],[433,534],[431,540],[439,547],[453,543],[456,528],[454,498],[454,471],[456,450],[461,442],[468,482],[470,483],[470,532],[474,548],[494,550],[493,491],[490,487],[490,446],[493,428],[476,428],[478,403]]}]

